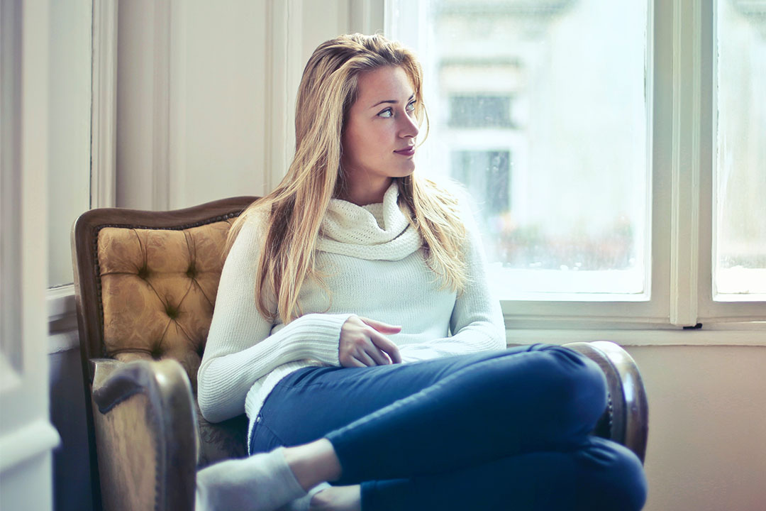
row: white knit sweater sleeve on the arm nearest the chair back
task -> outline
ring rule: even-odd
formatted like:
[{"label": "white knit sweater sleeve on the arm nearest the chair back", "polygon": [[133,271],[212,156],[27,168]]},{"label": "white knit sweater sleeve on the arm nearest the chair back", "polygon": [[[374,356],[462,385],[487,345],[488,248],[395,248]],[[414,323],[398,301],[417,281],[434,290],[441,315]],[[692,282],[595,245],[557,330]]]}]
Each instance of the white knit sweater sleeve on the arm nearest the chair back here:
[{"label": "white knit sweater sleeve on the arm nearest the chair back", "polygon": [[311,359],[340,365],[340,329],[349,314],[306,314],[282,329],[255,305],[260,229],[247,222],[226,258],[205,354],[197,374],[198,402],[211,422],[244,413],[250,387],[277,366]]}]

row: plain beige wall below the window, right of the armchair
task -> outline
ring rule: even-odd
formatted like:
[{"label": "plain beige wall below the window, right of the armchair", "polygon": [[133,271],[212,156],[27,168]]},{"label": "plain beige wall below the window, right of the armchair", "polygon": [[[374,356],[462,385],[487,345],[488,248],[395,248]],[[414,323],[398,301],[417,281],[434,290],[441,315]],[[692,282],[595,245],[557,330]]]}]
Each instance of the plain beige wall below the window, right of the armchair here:
[{"label": "plain beige wall below the window, right of the armchair", "polygon": [[766,346],[633,346],[649,397],[646,511],[766,505]]}]

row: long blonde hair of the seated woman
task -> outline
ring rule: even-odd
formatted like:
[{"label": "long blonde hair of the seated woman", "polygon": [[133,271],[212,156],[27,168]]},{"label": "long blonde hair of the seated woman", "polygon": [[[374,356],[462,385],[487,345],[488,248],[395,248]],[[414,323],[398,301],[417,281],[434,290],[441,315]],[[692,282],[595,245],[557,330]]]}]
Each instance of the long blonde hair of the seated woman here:
[{"label": "long blonde hair of the seated woman", "polygon": [[[316,48],[298,89],[296,152],[285,177],[270,194],[255,201],[229,231],[227,251],[244,222],[260,212],[264,235],[256,274],[256,305],[261,314],[283,323],[301,316],[298,295],[307,278],[322,283],[316,268],[319,228],[330,198],[342,191],[342,133],[356,99],[358,77],[379,67],[401,67],[412,81],[415,116],[422,123],[423,73],[414,54],[382,35],[351,34]],[[462,290],[466,268],[461,250],[465,228],[457,200],[417,175],[398,178],[399,207],[421,234],[429,267],[443,287]],[[278,312],[277,312],[278,311]]]}]

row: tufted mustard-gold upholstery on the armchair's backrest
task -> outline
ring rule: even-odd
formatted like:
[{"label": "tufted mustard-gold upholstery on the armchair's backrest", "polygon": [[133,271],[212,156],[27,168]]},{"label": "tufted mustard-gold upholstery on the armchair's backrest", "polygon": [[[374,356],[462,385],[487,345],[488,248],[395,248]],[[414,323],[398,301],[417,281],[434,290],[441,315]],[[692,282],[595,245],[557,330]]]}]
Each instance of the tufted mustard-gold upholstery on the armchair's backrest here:
[{"label": "tufted mustard-gold upholstery on the armchair's backrest", "polygon": [[227,220],[181,231],[100,230],[106,356],[178,360],[196,391],[230,226]]}]

